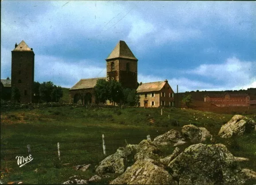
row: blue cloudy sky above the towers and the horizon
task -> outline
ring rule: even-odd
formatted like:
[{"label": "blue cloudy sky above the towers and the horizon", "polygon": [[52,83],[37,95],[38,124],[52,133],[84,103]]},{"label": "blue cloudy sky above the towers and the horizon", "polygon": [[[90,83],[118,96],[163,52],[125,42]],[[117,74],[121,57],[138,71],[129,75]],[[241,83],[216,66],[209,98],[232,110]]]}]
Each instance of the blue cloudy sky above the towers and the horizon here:
[{"label": "blue cloudy sky above the towers and the horizon", "polygon": [[35,81],[71,88],[106,77],[123,40],[138,58],[138,82],[168,80],[179,92],[256,88],[256,1],[2,0],[1,79],[24,40]]}]

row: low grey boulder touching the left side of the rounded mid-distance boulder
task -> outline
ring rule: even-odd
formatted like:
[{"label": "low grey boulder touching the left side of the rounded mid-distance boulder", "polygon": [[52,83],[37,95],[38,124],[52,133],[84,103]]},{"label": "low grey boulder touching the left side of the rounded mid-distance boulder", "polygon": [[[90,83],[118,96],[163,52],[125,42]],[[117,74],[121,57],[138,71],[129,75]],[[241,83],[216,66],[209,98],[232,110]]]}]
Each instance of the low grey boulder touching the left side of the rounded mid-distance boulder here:
[{"label": "low grey boulder touching the left side of the rounded mid-distance boulder", "polygon": [[184,141],[185,139],[182,137],[181,132],[172,129],[162,135],[158,135],[153,143],[156,145],[174,145]]}]

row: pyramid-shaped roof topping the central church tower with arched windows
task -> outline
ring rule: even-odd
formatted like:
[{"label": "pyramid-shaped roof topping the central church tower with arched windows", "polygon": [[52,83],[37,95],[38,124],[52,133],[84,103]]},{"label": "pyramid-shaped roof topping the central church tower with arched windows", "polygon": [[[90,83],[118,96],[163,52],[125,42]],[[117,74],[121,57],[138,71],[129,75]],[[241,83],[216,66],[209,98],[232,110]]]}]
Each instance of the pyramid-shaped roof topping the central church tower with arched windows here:
[{"label": "pyramid-shaped roof topping the central church tower with arched windows", "polygon": [[110,53],[108,59],[113,59],[113,58],[128,58],[128,59],[133,59],[133,60],[138,60],[134,54],[131,52],[130,48],[127,46],[127,44],[120,40],[117,45],[115,46],[114,50]]}]

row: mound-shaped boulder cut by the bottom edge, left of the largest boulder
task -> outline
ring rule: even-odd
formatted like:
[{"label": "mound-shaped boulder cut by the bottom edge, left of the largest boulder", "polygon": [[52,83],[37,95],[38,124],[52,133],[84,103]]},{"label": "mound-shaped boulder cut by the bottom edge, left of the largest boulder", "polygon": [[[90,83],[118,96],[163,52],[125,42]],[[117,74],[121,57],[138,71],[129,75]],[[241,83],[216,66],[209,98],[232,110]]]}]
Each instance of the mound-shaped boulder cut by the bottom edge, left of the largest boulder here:
[{"label": "mound-shaped boulder cut by the bottom edge, left of the largest boulder", "polygon": [[178,184],[163,166],[159,166],[153,159],[145,158],[136,161],[127,168],[125,173],[117,177],[110,184]]}]

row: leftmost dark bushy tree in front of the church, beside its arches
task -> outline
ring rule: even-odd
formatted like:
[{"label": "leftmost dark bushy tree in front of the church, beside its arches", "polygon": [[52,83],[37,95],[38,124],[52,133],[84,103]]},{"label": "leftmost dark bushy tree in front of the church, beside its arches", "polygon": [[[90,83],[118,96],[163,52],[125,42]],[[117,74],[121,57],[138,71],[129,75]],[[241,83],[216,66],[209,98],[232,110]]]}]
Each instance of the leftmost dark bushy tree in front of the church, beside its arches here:
[{"label": "leftmost dark bushy tree in front of the church, beside its arches", "polygon": [[106,100],[110,98],[110,83],[104,79],[97,81],[95,85],[95,96],[98,103],[106,103]]}]

